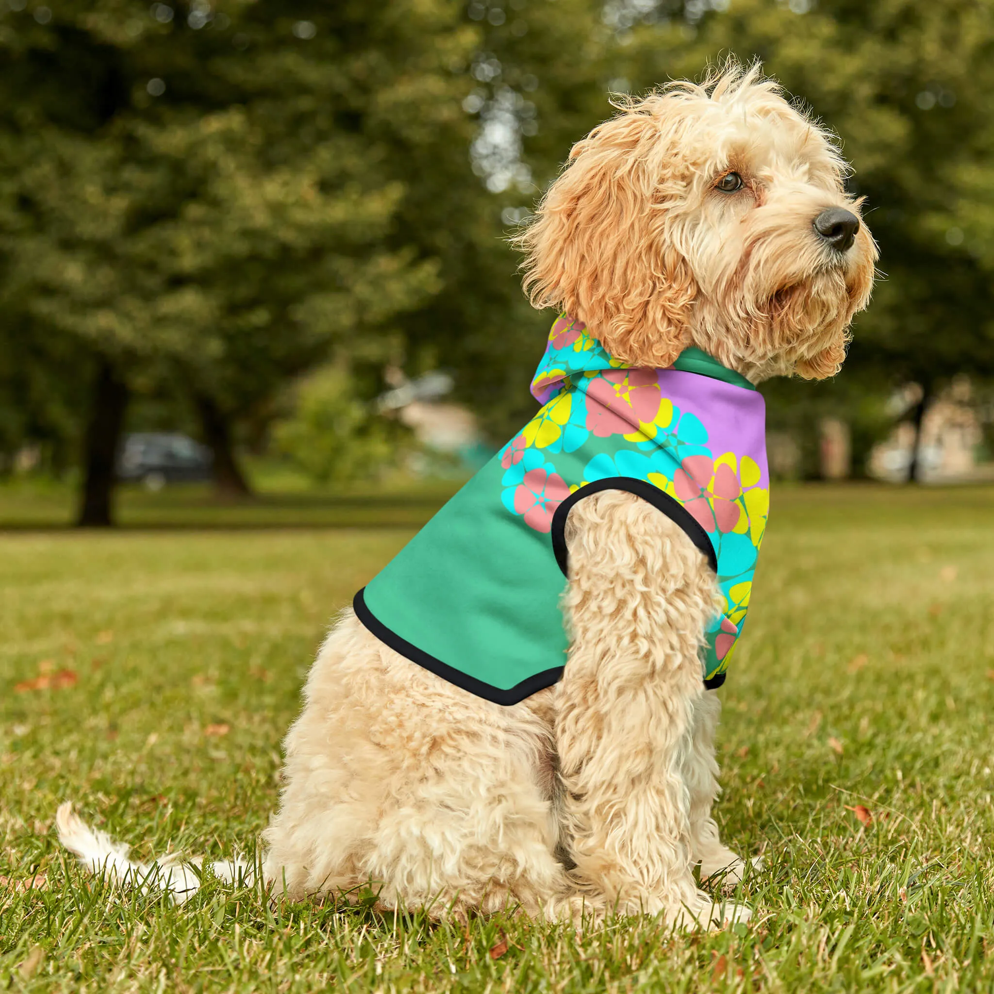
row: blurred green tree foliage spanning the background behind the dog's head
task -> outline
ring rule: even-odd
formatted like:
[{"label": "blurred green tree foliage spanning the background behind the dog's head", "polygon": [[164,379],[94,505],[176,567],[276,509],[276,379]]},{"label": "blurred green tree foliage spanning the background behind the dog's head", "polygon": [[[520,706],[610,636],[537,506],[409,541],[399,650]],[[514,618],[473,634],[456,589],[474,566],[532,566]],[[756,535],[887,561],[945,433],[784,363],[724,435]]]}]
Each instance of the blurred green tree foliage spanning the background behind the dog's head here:
[{"label": "blurred green tree foliage spanning the background behind the dog's head", "polygon": [[80,458],[110,375],[228,437],[329,360],[362,402],[388,363],[449,368],[500,438],[548,323],[508,235],[609,90],[730,53],[857,167],[884,277],[839,381],[802,389],[872,440],[868,396],[994,376],[992,45],[992,0],[8,2],[0,449]]}]

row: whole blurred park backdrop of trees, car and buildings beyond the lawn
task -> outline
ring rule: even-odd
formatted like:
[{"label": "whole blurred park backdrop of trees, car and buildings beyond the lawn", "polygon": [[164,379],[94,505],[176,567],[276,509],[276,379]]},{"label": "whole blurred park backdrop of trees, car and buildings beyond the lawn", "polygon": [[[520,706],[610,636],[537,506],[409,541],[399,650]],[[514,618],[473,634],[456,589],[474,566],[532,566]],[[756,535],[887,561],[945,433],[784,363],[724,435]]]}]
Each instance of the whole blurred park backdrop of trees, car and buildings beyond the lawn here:
[{"label": "whole blurred park backdrop of trees, car and buildings beyond the lawn", "polygon": [[837,379],[763,385],[774,475],[994,479],[985,0],[0,0],[0,525],[422,520],[534,408],[507,239],[729,53],[884,273]]}]

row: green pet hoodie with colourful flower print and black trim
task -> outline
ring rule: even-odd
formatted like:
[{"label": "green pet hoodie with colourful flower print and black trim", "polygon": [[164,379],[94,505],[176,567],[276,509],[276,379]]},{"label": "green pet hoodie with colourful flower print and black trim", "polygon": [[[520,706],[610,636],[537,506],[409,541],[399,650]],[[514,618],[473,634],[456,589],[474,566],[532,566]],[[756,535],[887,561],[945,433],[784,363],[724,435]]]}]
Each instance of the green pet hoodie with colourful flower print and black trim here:
[{"label": "green pet hoodie with colourful flower print and black trim", "polygon": [[631,368],[567,315],[532,395],[541,411],[356,594],[360,621],[457,687],[517,704],[567,662],[570,508],[626,490],[679,525],[718,577],[701,674],[721,686],[769,510],[762,397],[699,349]]}]

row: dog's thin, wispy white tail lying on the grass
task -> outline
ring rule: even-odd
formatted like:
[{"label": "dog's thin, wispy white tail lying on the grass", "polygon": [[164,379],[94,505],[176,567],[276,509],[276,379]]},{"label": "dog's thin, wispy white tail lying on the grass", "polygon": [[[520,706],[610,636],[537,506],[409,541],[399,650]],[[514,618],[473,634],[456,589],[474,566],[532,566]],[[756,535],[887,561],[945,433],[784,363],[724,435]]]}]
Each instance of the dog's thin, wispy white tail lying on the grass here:
[{"label": "dog's thin, wispy white tail lying on the grass", "polygon": [[[142,894],[162,892],[177,905],[192,898],[200,888],[203,859],[181,860],[165,856],[153,863],[134,863],[128,859],[129,846],[114,842],[106,832],[91,829],[66,801],[56,813],[59,841],[92,874],[124,887],[137,887]],[[212,863],[216,877],[229,883],[251,884],[253,868],[241,859]]]}]

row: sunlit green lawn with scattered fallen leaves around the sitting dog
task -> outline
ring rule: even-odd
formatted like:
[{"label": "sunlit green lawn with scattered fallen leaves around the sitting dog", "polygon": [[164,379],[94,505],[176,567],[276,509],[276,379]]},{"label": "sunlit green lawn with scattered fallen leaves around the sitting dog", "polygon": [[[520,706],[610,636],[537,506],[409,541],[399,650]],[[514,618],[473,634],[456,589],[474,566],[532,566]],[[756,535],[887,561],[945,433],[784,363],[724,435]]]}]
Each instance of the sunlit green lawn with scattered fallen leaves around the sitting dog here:
[{"label": "sunlit green lawn with scattered fallen leaves around the sitting dog", "polygon": [[325,625],[419,501],[382,505],[383,528],[367,504],[362,528],[0,535],[0,989],[994,990],[989,488],[774,494],[720,692],[718,816],[765,857],[748,927],[463,930],[215,881],[174,908],[86,880],[52,833],[66,798],[140,857],[250,851]]}]

